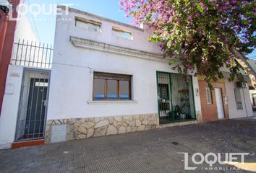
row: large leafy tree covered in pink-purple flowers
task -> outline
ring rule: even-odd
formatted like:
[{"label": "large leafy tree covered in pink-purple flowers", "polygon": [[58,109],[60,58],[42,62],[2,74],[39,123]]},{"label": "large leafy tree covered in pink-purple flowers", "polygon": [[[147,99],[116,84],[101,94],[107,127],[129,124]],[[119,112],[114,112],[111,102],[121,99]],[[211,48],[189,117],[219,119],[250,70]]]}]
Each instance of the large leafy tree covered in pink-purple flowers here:
[{"label": "large leafy tree covered in pink-purple flowers", "polygon": [[121,9],[135,24],[150,22],[149,40],[158,43],[179,73],[243,80],[243,69],[256,86],[255,71],[245,55],[255,49],[256,2],[254,0],[122,0]]}]

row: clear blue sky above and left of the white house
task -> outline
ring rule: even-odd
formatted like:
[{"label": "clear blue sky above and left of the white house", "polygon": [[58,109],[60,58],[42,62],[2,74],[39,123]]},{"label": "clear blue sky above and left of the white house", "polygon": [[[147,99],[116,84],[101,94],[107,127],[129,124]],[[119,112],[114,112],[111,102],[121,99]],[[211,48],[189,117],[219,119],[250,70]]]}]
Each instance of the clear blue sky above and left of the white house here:
[{"label": "clear blue sky above and left of the white house", "polygon": [[[71,7],[75,9],[81,9],[85,12],[97,14],[102,17],[114,19],[119,22],[127,23],[131,19],[124,17],[124,12],[119,10],[119,0],[26,0],[28,5],[40,4],[46,6],[46,12],[50,9],[50,4],[73,4]],[[33,27],[38,40],[41,43],[54,44],[54,32],[56,25],[56,16],[38,14],[37,17],[33,17],[32,14],[27,15],[30,20],[30,24]],[[249,58],[256,59],[256,50],[247,55]]]}]

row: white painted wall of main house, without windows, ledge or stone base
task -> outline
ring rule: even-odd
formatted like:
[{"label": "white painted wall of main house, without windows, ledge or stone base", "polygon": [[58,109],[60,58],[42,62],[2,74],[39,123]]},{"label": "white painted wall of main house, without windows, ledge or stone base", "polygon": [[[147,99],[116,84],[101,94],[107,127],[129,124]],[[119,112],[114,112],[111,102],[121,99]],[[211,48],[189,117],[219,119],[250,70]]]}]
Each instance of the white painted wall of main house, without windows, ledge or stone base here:
[{"label": "white painted wall of main house, without windows, ledge or stone base", "polygon": [[[102,32],[75,27],[74,16],[101,22]],[[72,20],[65,22],[61,18]],[[125,40],[111,35],[112,26],[131,31],[134,40]],[[124,48],[160,53],[157,45],[148,42],[148,35],[149,32],[146,30],[121,25],[101,17],[74,14],[74,12],[70,12],[67,17],[57,16],[47,119],[139,115],[158,112],[156,71],[176,72],[171,70],[168,63],[77,48],[69,41],[69,36],[74,36]],[[133,101],[92,102],[93,71],[131,74],[133,76]],[[198,88],[195,77],[193,77],[193,84]],[[200,111],[199,96],[195,96],[195,109]]]}]

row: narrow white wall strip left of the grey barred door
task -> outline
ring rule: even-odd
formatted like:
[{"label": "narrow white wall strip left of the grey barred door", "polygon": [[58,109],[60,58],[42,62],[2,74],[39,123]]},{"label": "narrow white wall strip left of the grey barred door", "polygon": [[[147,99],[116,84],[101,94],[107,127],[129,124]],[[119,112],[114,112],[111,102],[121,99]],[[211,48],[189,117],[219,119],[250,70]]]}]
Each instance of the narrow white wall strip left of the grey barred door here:
[{"label": "narrow white wall strip left of the grey barred door", "polygon": [[23,67],[9,65],[7,87],[0,117],[0,149],[10,148],[14,141],[20,101]]}]

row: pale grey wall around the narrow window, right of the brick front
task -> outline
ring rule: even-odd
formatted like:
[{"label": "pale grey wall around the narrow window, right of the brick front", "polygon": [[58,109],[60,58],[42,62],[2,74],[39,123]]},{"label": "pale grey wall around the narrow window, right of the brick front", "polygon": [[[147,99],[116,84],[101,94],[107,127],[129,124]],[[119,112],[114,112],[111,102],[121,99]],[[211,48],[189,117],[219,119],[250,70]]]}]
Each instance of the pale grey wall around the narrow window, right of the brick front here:
[{"label": "pale grey wall around the narrow window, right of the brick front", "polygon": [[236,109],[236,99],[234,95],[234,88],[236,88],[236,82],[229,82],[227,79],[225,80],[226,86],[226,95],[229,99],[228,107],[229,107],[229,118],[237,118],[237,117],[252,117],[252,105],[249,97],[249,89],[243,88],[241,89],[241,98],[243,110]]}]

